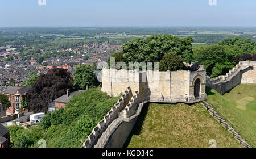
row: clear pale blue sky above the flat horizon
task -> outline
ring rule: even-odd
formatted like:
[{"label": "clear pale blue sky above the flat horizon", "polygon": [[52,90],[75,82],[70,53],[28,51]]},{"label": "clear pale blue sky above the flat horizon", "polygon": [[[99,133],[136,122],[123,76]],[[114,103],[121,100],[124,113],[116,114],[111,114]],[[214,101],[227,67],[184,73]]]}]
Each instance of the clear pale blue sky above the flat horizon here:
[{"label": "clear pale blue sky above the flat horizon", "polygon": [[256,27],[255,0],[0,0],[0,27]]}]

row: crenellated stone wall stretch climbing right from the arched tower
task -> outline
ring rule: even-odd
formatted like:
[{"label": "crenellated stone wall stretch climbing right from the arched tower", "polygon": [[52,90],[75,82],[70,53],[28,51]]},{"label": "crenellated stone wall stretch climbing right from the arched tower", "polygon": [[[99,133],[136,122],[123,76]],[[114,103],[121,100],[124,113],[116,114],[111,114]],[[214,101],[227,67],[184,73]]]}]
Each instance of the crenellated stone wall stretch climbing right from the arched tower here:
[{"label": "crenellated stone wall stretch climbing right from the arched tower", "polygon": [[240,61],[229,73],[211,79],[206,77],[207,86],[223,95],[240,83],[256,83],[256,62]]}]

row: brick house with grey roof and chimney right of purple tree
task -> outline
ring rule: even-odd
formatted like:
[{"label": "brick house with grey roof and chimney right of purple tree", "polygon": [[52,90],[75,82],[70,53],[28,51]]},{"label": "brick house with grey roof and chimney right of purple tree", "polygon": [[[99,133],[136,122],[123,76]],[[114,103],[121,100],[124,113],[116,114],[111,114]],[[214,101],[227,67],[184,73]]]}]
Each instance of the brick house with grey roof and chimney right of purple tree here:
[{"label": "brick house with grey roof and chimney right of purple tree", "polygon": [[70,93],[70,91],[68,89],[67,94],[65,94],[53,101],[53,102],[55,102],[55,108],[64,108],[74,95],[80,94],[82,92],[84,92],[84,90],[77,90],[77,91],[73,91],[72,93]]}]

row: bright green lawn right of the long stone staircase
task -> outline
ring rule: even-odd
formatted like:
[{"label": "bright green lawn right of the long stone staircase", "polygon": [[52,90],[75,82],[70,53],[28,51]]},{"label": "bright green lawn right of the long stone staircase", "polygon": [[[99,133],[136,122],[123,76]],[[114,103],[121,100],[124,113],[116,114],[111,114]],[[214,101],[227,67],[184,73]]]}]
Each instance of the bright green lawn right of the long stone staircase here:
[{"label": "bright green lawn right of the long stone staircase", "polygon": [[208,101],[256,145],[256,85],[241,84],[224,95],[207,88],[207,95]]}]

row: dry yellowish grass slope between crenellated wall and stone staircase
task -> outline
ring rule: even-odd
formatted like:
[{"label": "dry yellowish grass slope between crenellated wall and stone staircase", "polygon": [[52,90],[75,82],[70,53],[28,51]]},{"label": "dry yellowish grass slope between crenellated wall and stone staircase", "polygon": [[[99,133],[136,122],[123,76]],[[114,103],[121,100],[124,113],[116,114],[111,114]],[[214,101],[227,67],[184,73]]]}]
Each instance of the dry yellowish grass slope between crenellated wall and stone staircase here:
[{"label": "dry yellowish grass slope between crenellated wall and stone staircase", "polygon": [[147,104],[124,147],[242,147],[200,103]]}]

